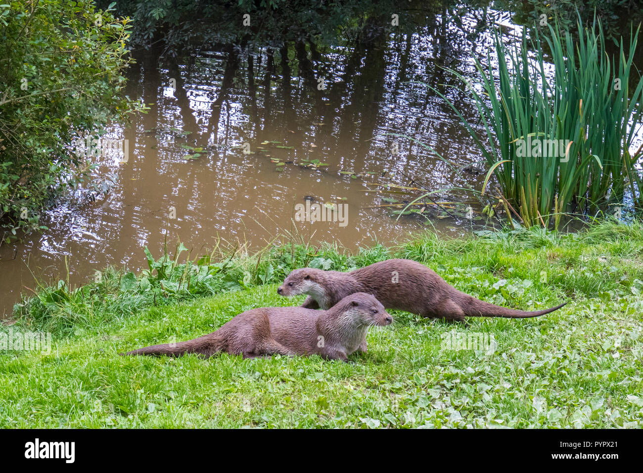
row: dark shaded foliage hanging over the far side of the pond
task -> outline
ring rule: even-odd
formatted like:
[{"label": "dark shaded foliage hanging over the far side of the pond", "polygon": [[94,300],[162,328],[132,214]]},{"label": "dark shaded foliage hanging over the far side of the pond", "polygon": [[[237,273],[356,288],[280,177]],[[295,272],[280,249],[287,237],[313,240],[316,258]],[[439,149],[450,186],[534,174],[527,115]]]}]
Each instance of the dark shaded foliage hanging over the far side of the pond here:
[{"label": "dark shaded foliage hanging over the far side of the pond", "polygon": [[[98,5],[109,0],[98,0]],[[404,14],[393,0],[117,0],[118,15],[131,15],[132,48],[161,46],[163,52],[211,44],[278,47],[316,38],[329,44],[352,39],[369,17]],[[249,15],[244,17],[244,15]],[[245,21],[244,21],[245,20]],[[401,23],[403,24],[403,23]],[[408,26],[408,25],[406,25]]]}]

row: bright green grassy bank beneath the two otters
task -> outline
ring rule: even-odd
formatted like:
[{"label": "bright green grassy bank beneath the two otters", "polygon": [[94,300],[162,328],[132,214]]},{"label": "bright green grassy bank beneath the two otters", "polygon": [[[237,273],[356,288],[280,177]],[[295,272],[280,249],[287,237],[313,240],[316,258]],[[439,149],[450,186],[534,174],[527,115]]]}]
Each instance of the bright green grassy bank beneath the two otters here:
[{"label": "bright green grassy bank beneath the two otters", "polygon": [[[393,311],[394,324],[372,329],[368,353],[352,355],[350,364],[318,357],[118,356],[173,337],[203,335],[249,308],[300,302],[275,291],[292,266],[346,270],[388,255],[422,261],[458,289],[503,306],[529,310],[570,303],[537,319],[469,319],[467,328]],[[53,344],[51,353],[0,351],[0,427],[643,422],[640,225],[453,240],[426,234],[388,253],[381,246],[355,255],[297,246],[174,268],[170,258],[161,259],[167,279],[152,261],[147,274],[107,272],[86,290],[50,288],[17,307],[14,331],[50,331]],[[188,277],[197,273],[198,284],[196,276]],[[460,339],[493,336],[496,349],[445,349],[443,337],[451,331]]]}]

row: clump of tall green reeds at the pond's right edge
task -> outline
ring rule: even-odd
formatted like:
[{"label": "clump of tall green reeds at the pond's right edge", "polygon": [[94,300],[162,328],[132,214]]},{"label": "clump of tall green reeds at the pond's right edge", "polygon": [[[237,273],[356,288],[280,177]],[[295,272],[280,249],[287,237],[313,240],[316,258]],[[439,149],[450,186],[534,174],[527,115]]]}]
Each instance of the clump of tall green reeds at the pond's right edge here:
[{"label": "clump of tall green reeds at the pond's right edge", "polygon": [[[610,57],[600,21],[579,24],[579,38],[548,26],[528,39],[505,44],[494,33],[498,70],[475,58],[483,91],[468,87],[484,128],[476,132],[449,98],[489,166],[483,192],[494,174],[527,227],[557,228],[560,215],[623,205],[626,191],[643,208],[638,153],[630,147],[641,118],[643,81],[629,87],[639,28],[619,55]],[[545,60],[547,44],[551,63]],[[553,67],[552,67],[553,66]],[[467,80],[457,71],[449,70]],[[453,86],[455,87],[455,86]]]}]

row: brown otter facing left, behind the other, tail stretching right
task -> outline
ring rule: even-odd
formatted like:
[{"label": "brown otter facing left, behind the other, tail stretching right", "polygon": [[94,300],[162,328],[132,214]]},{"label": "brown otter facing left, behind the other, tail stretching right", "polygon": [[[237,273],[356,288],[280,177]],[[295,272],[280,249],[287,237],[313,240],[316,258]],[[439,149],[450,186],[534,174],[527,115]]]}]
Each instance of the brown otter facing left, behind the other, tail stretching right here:
[{"label": "brown otter facing left, behind the other, tail stretching right", "polygon": [[308,294],[302,307],[311,309],[328,309],[351,293],[367,292],[386,309],[458,322],[464,322],[466,316],[538,317],[565,305],[527,312],[489,304],[449,286],[433,270],[410,259],[388,259],[349,273],[298,269],[285,278],[277,292],[285,297]]}]

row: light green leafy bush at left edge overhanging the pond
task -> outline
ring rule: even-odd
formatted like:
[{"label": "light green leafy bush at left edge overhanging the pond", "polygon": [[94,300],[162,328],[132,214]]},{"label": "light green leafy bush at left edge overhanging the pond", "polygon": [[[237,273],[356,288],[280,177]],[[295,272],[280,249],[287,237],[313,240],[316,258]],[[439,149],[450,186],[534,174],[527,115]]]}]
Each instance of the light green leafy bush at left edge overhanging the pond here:
[{"label": "light green leafy bush at left edge overhanging the pond", "polygon": [[0,5],[0,221],[37,227],[38,212],[91,163],[71,146],[141,105],[122,97],[128,18],[91,0]]}]

